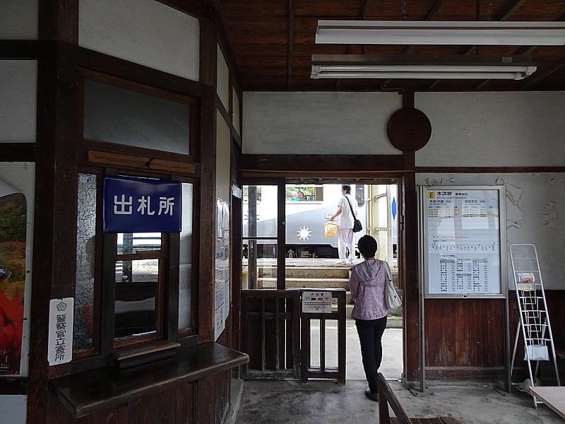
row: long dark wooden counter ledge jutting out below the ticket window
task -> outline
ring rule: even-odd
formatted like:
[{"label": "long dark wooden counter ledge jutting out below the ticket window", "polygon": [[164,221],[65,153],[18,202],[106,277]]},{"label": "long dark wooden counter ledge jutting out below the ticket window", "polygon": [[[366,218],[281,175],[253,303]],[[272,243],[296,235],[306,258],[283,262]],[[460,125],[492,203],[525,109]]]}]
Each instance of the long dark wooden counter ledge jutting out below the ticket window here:
[{"label": "long dark wooden counter ledge jutting out below the ticket window", "polygon": [[193,382],[249,362],[246,353],[218,343],[177,349],[174,358],[119,369],[105,367],[52,379],[49,387],[76,418],[129,404],[179,381]]}]

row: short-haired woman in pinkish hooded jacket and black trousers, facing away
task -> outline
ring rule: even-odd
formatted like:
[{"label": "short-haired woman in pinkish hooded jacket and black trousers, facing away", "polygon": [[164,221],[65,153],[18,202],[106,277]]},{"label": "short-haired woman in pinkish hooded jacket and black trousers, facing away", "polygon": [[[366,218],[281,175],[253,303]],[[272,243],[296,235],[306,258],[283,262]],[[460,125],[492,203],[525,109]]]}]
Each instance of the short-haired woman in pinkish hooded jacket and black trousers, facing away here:
[{"label": "short-haired woman in pinkish hooded jacket and black trousers, facing away", "polygon": [[361,344],[361,355],[365,377],[369,389],[365,396],[378,402],[377,372],[383,358],[381,338],[386,329],[385,287],[392,280],[391,269],[385,261],[375,259],[376,240],[364,235],[357,243],[359,252],[365,259],[351,269],[349,288],[355,306],[351,317],[355,319],[357,334]]}]

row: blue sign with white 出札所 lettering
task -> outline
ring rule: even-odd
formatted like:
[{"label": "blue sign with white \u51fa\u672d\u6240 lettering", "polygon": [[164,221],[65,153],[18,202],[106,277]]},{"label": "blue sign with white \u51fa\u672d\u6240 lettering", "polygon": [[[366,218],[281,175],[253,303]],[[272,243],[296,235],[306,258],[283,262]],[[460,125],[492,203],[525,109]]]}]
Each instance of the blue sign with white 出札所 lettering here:
[{"label": "blue sign with white \u51fa\u672d\u6240 lettering", "polygon": [[104,232],[180,232],[180,182],[105,177]]}]

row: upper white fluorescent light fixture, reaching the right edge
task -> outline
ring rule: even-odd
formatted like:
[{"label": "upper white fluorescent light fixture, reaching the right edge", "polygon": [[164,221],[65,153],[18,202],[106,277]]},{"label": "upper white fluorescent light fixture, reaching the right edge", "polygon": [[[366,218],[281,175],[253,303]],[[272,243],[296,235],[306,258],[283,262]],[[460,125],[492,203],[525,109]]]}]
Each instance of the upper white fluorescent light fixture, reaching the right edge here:
[{"label": "upper white fluorescent light fixture, reaching the right edge", "polygon": [[565,45],[565,22],[319,20],[316,44]]}]

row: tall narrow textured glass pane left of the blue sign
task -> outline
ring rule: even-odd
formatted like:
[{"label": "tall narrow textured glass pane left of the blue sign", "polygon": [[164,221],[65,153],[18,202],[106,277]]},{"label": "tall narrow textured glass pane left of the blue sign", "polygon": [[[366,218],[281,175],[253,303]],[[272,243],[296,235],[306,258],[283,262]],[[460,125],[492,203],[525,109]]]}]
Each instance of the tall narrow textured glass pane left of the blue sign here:
[{"label": "tall narrow textured glass pane left of the blue sign", "polygon": [[78,175],[73,349],[93,348],[96,175]]}]

